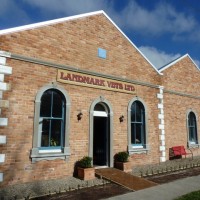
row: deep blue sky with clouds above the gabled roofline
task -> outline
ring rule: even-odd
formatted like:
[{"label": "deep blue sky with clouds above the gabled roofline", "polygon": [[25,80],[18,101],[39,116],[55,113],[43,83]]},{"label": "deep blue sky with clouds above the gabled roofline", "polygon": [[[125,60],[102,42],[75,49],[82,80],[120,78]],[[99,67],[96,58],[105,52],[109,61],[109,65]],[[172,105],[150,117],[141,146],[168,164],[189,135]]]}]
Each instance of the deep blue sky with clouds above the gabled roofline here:
[{"label": "deep blue sky with clouds above the gabled roofline", "polygon": [[186,53],[200,66],[199,0],[0,0],[0,30],[98,10],[155,67]]}]

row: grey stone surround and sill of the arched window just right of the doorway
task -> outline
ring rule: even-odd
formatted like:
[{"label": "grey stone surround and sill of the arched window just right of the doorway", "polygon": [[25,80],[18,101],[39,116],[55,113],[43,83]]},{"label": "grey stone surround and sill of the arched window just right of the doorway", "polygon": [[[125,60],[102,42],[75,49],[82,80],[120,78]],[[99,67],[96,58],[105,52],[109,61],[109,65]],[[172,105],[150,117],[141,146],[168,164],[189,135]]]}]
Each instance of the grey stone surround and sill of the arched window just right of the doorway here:
[{"label": "grey stone surround and sill of the arched window just right of the doorway", "polygon": [[[132,124],[132,121],[131,121],[131,107],[133,105],[134,102],[140,102],[143,107],[144,107],[144,143],[142,143],[141,145],[133,145],[131,143],[132,141],[132,133],[131,133],[131,124]],[[144,101],[142,99],[140,99],[139,97],[135,97],[133,98],[129,104],[128,104],[128,151],[129,151],[129,154],[134,154],[134,153],[147,153],[147,151],[149,150],[149,144],[148,144],[148,127],[147,127],[147,106],[146,104],[144,103]]]}]

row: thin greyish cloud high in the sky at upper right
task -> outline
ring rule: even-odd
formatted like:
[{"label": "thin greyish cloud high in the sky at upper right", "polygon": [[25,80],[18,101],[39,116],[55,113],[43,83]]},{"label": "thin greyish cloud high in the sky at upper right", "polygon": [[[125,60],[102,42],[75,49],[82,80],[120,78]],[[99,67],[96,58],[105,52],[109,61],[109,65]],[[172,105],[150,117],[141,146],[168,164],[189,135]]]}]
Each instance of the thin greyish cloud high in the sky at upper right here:
[{"label": "thin greyish cloud high in the sky at upper right", "polygon": [[189,33],[198,25],[193,16],[178,12],[170,4],[160,1],[152,10],[147,10],[136,1],[130,1],[121,11],[121,25],[143,34]]}]

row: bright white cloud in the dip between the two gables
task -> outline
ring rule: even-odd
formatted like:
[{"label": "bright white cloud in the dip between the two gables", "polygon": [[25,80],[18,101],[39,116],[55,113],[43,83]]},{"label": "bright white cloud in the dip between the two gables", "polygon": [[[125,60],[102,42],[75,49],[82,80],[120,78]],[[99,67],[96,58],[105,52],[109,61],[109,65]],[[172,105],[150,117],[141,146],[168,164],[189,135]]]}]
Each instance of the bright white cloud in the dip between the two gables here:
[{"label": "bright white cloud in the dip between the two gables", "polygon": [[149,46],[141,46],[139,49],[158,69],[181,56],[179,53],[168,54],[164,51],[156,49],[155,47]]}]

